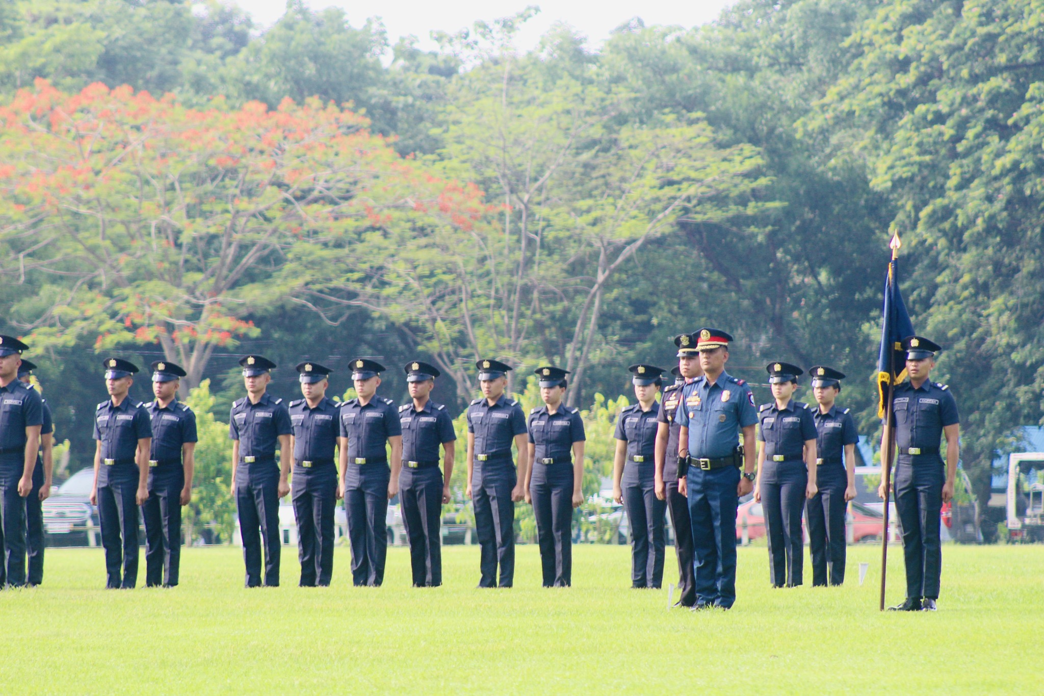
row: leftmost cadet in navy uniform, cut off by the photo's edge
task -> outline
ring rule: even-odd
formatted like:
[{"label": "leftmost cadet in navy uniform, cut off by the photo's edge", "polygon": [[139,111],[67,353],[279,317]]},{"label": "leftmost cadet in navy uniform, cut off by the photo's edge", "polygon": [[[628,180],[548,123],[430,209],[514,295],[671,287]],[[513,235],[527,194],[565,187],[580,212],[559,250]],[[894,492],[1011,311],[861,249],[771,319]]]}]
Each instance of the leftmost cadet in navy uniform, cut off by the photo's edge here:
[{"label": "leftmost cadet in navy uniform, cut off by the photo's edge", "polygon": [[18,379],[28,347],[0,336],[0,587],[25,584],[25,499],[32,491],[44,424],[40,393]]}]

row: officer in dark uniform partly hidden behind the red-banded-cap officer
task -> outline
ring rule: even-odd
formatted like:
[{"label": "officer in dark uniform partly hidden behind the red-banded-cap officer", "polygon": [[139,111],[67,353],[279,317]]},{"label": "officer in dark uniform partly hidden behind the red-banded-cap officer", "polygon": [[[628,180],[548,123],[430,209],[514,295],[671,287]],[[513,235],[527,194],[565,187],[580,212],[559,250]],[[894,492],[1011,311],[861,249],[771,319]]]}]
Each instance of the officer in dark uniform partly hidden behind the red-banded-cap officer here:
[{"label": "officer in dark uniform partly hidden behind the red-banded-cap officer", "polygon": [[678,433],[682,429],[674,421],[678,407],[682,404],[682,387],[693,381],[703,370],[699,368],[699,354],[696,351],[695,334],[679,334],[674,337],[678,346],[678,365],[670,374],[675,383],[663,390],[660,415],[657,416],[656,433],[656,495],[665,500],[674,526],[674,555],[678,556],[678,605],[692,606],[696,602],[695,572],[692,551],[692,520],[689,518],[689,501],[678,490],[679,478],[685,474],[678,469]]}]

